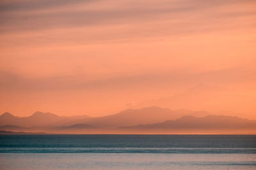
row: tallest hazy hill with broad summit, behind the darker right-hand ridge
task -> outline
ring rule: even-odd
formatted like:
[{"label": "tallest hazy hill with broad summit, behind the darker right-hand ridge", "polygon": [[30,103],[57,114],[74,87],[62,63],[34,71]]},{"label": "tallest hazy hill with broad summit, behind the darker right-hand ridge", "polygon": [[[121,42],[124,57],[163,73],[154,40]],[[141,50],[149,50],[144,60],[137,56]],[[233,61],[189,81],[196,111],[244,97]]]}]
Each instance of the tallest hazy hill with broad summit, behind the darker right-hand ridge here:
[{"label": "tallest hazy hill with broad summit, behind the darker right-hand ridge", "polygon": [[165,120],[175,120],[184,115],[209,115],[205,111],[170,110],[168,108],[148,107],[139,110],[125,110],[106,117],[86,118],[80,123],[97,127],[120,127],[138,124],[154,124]]}]

